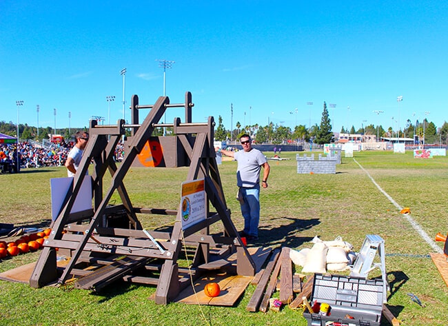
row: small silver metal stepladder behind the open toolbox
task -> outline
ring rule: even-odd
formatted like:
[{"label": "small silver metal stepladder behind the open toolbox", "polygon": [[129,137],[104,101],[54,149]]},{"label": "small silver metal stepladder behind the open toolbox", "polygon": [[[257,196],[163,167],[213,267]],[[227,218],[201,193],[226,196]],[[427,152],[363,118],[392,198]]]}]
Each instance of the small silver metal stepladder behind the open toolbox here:
[{"label": "small silver metal stepladder behind the open toolbox", "polygon": [[[374,263],[376,253],[380,257],[380,263]],[[386,275],[384,240],[376,234],[368,234],[365,236],[363,246],[359,251],[350,276],[367,278],[369,272],[376,267],[381,270],[381,277],[383,278],[383,303],[387,303],[389,282],[387,282]]]}]

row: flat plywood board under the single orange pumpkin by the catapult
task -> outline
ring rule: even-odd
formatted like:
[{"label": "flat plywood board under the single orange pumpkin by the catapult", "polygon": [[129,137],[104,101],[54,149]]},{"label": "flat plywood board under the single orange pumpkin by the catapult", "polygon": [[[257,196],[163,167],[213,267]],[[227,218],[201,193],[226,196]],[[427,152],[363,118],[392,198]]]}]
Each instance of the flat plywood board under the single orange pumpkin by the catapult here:
[{"label": "flat plywood board under the single orange pumpkin by the catapult", "polygon": [[[228,274],[209,274],[198,278],[194,282],[194,289],[190,286],[184,289],[174,302],[190,305],[218,305],[231,307],[243,294],[253,276],[229,276]],[[205,295],[204,287],[207,283],[218,283],[221,293],[215,298]]]}]

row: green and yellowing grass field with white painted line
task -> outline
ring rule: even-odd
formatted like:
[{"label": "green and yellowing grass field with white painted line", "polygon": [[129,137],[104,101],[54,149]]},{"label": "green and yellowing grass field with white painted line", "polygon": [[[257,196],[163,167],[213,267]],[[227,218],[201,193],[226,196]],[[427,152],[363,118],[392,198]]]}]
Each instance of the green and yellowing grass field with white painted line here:
[{"label": "green and yellowing grass field with white painted line", "polygon": [[[256,245],[301,249],[311,247],[309,241],[318,235],[323,240],[342,236],[360,249],[366,234],[378,234],[385,239],[391,312],[402,325],[446,325],[448,287],[428,256],[434,249],[366,172],[397,205],[410,207],[414,221],[434,238],[437,232],[448,233],[448,158],[414,159],[411,152],[355,152],[354,158],[343,158],[336,174],[297,174],[296,153],[284,152],[282,157],[290,160],[269,162],[271,175],[269,187],[261,190],[260,240]],[[235,162],[220,165],[227,205],[241,230],[243,221],[234,198],[235,170]],[[132,168],[125,187],[135,206],[175,210],[186,175],[185,167]],[[63,167],[0,175],[0,222],[49,225],[50,179],[62,176],[66,176]],[[141,223],[154,228],[171,219],[141,216]],[[442,247],[442,243],[437,245]],[[0,262],[0,272],[37,258],[38,253],[6,258]],[[378,272],[375,269],[369,276],[378,276]],[[155,291],[150,286],[116,283],[92,294],[70,287],[33,289],[0,281],[0,325],[307,325],[301,310],[288,307],[278,313],[246,312],[254,289],[247,287],[234,307],[161,306],[148,299]],[[426,307],[412,302],[408,293],[416,294]],[[389,324],[383,318],[381,325]]]}]

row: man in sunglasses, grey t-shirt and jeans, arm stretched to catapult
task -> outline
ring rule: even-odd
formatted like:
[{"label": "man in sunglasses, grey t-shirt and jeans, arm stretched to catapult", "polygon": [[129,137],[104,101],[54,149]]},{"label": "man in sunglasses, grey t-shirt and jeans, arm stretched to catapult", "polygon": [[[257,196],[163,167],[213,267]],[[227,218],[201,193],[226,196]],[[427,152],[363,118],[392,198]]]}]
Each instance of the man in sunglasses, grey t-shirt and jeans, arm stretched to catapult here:
[{"label": "man in sunglasses, grey t-shirt and jeans, arm stretched to catapult", "polygon": [[258,222],[260,221],[260,172],[263,167],[261,186],[267,188],[269,163],[262,152],[252,148],[248,134],[240,137],[243,150],[232,152],[218,149],[218,152],[230,156],[238,162],[236,170],[236,184],[239,187],[238,197],[241,198],[241,214],[244,217],[244,230],[240,233],[247,241],[258,239]]}]

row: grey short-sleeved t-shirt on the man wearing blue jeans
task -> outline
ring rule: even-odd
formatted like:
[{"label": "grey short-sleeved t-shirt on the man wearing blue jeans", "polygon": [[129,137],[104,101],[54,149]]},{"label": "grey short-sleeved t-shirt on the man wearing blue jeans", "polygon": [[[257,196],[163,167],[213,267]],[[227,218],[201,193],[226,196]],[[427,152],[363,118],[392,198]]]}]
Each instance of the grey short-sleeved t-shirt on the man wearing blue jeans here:
[{"label": "grey short-sleeved t-shirt on the man wearing blue jeans", "polygon": [[240,150],[234,154],[235,161],[238,161],[236,170],[236,184],[238,187],[255,187],[260,183],[261,165],[266,163],[266,158],[262,152],[252,148],[250,152]]}]

